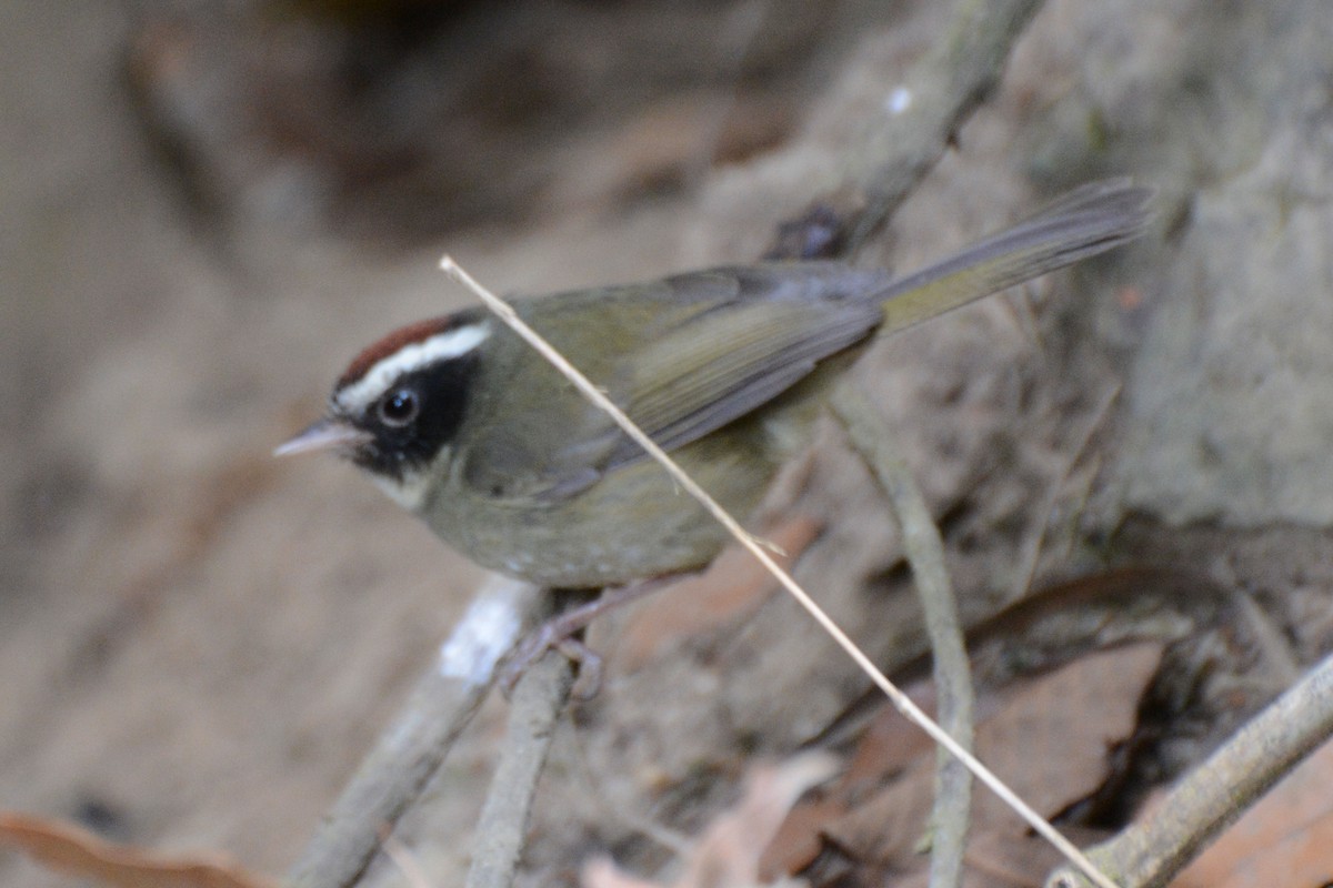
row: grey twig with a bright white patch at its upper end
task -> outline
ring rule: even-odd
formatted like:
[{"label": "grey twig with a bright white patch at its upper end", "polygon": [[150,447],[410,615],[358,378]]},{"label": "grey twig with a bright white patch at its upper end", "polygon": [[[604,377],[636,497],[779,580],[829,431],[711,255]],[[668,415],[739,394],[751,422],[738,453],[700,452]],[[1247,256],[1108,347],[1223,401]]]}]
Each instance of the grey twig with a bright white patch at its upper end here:
[{"label": "grey twig with a bright white patch at its upper end", "polygon": [[549,608],[549,595],[515,580],[500,580],[479,594],[292,867],[289,888],[356,883],[379,848],[381,829],[416,800],[472,720],[496,663],[515,646],[523,626]]}]

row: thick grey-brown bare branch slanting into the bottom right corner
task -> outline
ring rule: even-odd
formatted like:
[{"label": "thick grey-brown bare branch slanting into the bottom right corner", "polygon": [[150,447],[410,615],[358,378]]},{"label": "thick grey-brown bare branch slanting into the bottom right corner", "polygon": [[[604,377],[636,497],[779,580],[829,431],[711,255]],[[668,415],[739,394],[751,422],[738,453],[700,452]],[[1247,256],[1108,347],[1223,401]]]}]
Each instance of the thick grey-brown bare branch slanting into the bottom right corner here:
[{"label": "thick grey-brown bare branch slanting into the bottom right corner", "polygon": [[[1333,736],[1333,656],[1241,728],[1144,817],[1090,852],[1129,888],[1164,885],[1301,759]],[[1057,869],[1048,888],[1086,880]]]}]

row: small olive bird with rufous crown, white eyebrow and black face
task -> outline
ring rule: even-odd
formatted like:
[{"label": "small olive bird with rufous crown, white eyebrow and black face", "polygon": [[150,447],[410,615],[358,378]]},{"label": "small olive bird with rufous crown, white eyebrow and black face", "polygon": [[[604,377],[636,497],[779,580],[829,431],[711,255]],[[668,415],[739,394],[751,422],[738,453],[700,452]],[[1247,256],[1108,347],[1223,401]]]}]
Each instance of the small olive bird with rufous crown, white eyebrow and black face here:
[{"label": "small olive bird with rufous crown, white eyebrow and black face", "polygon": [[[880,337],[1141,234],[1152,190],[1078,188],[893,280],[838,262],[712,268],[515,309],[732,514],[809,439]],[[480,306],[361,351],[327,415],[277,449],[333,450],[477,563],[552,588],[708,564],[726,533],[541,355]]]}]

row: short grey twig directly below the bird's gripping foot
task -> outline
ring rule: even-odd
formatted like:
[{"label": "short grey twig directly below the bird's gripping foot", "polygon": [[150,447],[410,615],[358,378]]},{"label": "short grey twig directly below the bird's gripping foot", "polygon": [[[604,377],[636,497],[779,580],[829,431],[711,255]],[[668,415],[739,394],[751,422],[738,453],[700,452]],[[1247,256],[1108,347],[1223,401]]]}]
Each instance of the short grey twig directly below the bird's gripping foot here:
[{"label": "short grey twig directly below the bird's gripping foot", "polygon": [[573,662],[552,650],[515,686],[500,762],[472,839],[467,888],[513,884],[537,777],[573,683]]}]

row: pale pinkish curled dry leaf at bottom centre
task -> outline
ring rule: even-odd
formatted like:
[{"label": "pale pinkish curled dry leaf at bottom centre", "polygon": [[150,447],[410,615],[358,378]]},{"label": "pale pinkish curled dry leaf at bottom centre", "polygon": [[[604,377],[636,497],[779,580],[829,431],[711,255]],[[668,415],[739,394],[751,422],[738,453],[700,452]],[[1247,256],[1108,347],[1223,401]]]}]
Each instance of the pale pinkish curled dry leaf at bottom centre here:
[{"label": "pale pinkish curled dry leaf at bottom centre", "polygon": [[[833,758],[806,752],[778,766],[754,766],[740,803],[704,832],[673,888],[757,888],[760,853],[796,800],[833,775]],[[584,888],[659,888],[628,876],[605,857],[584,867]]]}]

